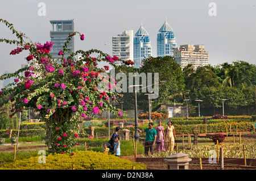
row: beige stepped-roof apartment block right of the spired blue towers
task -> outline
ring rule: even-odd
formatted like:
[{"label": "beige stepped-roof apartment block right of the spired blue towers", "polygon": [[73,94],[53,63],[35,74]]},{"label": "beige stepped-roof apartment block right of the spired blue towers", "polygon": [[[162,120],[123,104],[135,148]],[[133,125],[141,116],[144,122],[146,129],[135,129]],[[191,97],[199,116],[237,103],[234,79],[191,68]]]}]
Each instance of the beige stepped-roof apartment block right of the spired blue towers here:
[{"label": "beige stepped-roof apartment block right of the spired blue towers", "polygon": [[180,45],[174,49],[174,58],[182,69],[188,64],[192,64],[194,69],[209,64],[209,52],[204,49],[204,45]]}]

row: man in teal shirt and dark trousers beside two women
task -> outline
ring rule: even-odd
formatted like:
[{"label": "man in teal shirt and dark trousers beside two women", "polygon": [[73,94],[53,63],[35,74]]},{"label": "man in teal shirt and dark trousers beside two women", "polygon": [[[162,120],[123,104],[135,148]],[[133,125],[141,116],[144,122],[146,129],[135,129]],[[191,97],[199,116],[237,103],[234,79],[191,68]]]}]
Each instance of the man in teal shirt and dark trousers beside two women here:
[{"label": "man in teal shirt and dark trousers beside two women", "polygon": [[148,155],[148,149],[150,149],[150,153],[154,153],[154,146],[156,141],[156,130],[153,128],[153,123],[148,123],[148,128],[144,130],[137,129],[138,132],[143,133],[146,132],[146,140],[144,145],[144,154]]}]

